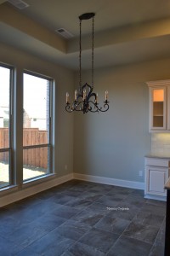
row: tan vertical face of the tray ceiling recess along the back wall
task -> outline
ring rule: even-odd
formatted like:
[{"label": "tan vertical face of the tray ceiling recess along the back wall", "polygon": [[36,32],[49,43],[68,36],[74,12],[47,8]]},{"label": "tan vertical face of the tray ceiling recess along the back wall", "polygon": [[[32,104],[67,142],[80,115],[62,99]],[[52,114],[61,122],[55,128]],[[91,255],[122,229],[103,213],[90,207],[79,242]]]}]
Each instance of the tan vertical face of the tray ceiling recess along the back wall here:
[{"label": "tan vertical face of the tray ceiling recess along the back wall", "polygon": [[[156,38],[170,34],[170,18],[123,26],[105,32],[94,34],[95,48],[108,45],[128,43],[144,38]],[[82,49],[91,49],[89,36],[82,37]],[[67,53],[77,52],[78,38],[73,38],[68,43]]]}]

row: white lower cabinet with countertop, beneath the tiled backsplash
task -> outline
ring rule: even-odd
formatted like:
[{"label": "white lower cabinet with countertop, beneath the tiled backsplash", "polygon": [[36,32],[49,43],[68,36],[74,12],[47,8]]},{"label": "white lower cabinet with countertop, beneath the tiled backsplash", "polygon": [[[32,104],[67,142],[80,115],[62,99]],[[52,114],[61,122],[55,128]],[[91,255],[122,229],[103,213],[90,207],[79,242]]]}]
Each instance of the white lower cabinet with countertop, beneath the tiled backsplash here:
[{"label": "white lower cabinet with countertop, beneath the tiled backsplash", "polygon": [[169,177],[169,160],[145,158],[145,198],[166,199],[164,185]]}]

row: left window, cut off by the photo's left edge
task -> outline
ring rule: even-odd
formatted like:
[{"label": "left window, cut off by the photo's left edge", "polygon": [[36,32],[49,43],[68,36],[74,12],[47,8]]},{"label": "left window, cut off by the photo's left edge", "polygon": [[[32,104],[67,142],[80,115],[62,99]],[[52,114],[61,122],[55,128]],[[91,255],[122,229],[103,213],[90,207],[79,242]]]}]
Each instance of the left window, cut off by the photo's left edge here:
[{"label": "left window, cut off by the photo's left edge", "polygon": [[0,66],[0,189],[12,183],[11,81],[12,69]]}]

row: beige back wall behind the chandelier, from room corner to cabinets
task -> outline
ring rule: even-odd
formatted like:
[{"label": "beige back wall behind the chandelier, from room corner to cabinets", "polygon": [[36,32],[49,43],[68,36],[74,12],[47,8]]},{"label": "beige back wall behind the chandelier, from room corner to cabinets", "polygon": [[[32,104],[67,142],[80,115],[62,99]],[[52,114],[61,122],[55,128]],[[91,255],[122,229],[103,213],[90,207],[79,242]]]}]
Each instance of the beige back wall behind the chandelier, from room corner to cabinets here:
[{"label": "beige back wall behind the chandelier, from room corner to cabinets", "polygon": [[[99,102],[109,90],[110,109],[75,115],[74,172],[144,182],[144,154],[151,149],[145,82],[169,79],[169,65],[170,60],[161,60],[95,71],[94,90]],[[83,82],[89,78],[84,72]]]}]

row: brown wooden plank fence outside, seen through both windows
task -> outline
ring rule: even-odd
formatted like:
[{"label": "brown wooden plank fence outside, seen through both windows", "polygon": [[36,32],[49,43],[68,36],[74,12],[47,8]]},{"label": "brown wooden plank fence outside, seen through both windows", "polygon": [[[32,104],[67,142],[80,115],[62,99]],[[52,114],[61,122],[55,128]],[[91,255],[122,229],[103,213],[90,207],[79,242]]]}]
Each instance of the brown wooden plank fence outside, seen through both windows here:
[{"label": "brown wooden plank fence outside, seen through both windows", "polygon": [[[24,128],[24,146],[46,143],[48,143],[48,131],[40,131],[38,128]],[[8,128],[0,128],[0,148],[8,148]],[[24,165],[48,168],[48,147],[26,148],[23,151]],[[8,152],[0,153],[0,161],[8,161]]]}]

